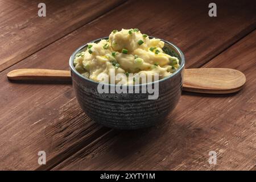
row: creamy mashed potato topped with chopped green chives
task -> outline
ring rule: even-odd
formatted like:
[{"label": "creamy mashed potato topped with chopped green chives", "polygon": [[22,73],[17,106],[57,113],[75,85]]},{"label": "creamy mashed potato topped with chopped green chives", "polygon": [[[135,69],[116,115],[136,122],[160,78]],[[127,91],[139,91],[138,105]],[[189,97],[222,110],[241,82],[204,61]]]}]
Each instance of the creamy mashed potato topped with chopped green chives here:
[{"label": "creamy mashed potato topped with chopped green chives", "polygon": [[101,73],[110,75],[110,69],[114,69],[115,74],[125,73],[126,76],[129,73],[158,73],[161,79],[179,68],[177,57],[164,53],[163,47],[163,41],[149,39],[137,28],[114,30],[109,40],[89,43],[86,51],[76,55],[74,65],[82,76],[97,82],[101,81],[98,78]]}]

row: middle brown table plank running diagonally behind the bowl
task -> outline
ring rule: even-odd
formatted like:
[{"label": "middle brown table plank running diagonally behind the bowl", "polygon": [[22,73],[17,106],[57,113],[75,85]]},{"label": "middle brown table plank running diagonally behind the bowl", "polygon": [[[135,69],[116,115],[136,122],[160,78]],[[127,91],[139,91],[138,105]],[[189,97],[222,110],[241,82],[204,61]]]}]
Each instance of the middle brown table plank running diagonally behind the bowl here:
[{"label": "middle brown table plank running diagonally behind the bowl", "polygon": [[[174,42],[185,53],[187,67],[197,67],[198,60],[200,64],[205,63],[255,27],[254,11],[247,2],[229,6],[218,1],[222,16],[216,20],[205,13],[208,9],[205,1],[174,1],[172,4],[148,1],[147,6],[141,1],[129,1],[1,72],[0,168],[49,169],[86,146],[88,152],[93,151],[90,155],[94,155],[92,143],[102,142],[101,138],[105,139],[102,136],[110,132],[82,112],[71,85],[16,84],[7,81],[7,72],[19,68],[68,69],[73,50],[121,27],[138,27],[148,35]],[[134,14],[138,16],[132,16]],[[177,130],[182,131],[183,127]],[[164,130],[159,134],[163,133]],[[176,144],[179,143],[172,145]],[[39,166],[39,150],[46,151],[47,165]]]}]

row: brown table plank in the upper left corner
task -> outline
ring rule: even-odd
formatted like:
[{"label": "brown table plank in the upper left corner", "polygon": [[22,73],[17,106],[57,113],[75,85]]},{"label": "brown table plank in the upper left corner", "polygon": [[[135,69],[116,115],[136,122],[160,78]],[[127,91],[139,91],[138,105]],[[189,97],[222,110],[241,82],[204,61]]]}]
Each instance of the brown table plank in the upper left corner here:
[{"label": "brown table plank in the upper left corner", "polygon": [[123,0],[47,0],[46,17],[38,16],[40,2],[0,1],[0,71],[112,10]]}]

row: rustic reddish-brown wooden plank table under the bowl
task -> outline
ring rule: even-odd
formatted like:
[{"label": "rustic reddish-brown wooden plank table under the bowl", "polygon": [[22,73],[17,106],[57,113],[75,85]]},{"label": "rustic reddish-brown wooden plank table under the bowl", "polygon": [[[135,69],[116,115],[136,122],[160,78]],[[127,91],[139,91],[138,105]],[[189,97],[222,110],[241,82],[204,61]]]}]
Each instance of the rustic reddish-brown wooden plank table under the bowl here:
[{"label": "rustic reddish-brown wooden plank table under the bowl", "polygon": [[[256,167],[256,3],[0,0],[0,169],[252,170]],[[236,94],[183,93],[165,122],[136,131],[94,123],[72,85],[9,82],[19,68],[68,69],[71,53],[112,30],[139,28],[185,54],[186,68],[233,68]],[[38,164],[46,152],[46,165]],[[209,151],[217,164],[208,163]]]}]

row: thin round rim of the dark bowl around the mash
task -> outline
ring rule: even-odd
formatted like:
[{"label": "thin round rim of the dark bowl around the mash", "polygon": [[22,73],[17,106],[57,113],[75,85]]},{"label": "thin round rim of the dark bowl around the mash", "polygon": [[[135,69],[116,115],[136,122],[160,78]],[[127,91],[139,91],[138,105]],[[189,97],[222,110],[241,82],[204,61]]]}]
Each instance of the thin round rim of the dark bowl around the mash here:
[{"label": "thin round rim of the dark bowl around the mash", "polygon": [[[153,39],[153,38],[155,38],[155,39],[160,39],[160,38],[156,38],[156,37],[154,37],[154,36],[148,36],[148,37],[151,38],[151,39]],[[77,76],[79,76],[79,77],[82,78],[83,80],[89,81],[89,82],[91,82],[91,83],[93,83],[93,84],[99,84],[100,82],[97,82],[97,81],[94,81],[94,80],[90,80],[89,78],[86,78],[86,77],[82,76],[79,72],[77,72],[76,69],[75,69],[75,66],[74,66],[74,64],[73,64],[73,60],[75,59],[75,56],[76,56],[77,52],[81,51],[81,49],[84,49],[86,46],[88,46],[89,43],[98,42],[98,41],[100,41],[100,40],[102,40],[102,39],[109,39],[109,37],[108,37],[108,36],[105,36],[105,37],[103,37],[103,38],[99,38],[99,39],[96,39],[96,40],[92,40],[92,41],[90,41],[90,42],[88,42],[88,43],[86,43],[86,44],[80,46],[79,48],[77,48],[77,49],[72,53],[71,57],[69,58],[69,69],[71,70],[71,72],[75,73]],[[184,68],[184,66],[185,66],[185,56],[184,56],[183,52],[180,50],[179,47],[175,46],[175,44],[172,44],[172,43],[170,43],[170,42],[168,42],[168,41],[166,41],[166,40],[163,40],[163,39],[160,39],[160,40],[162,40],[164,43],[166,43],[166,44],[172,46],[172,47],[175,49],[175,52],[180,55],[180,59],[181,59],[180,67],[177,69],[176,72],[172,73],[170,76],[164,77],[164,78],[162,78],[162,79],[160,79],[160,80],[157,80],[157,81],[154,81],[154,82],[148,82],[148,83],[145,83],[145,84],[128,85],[128,86],[133,87],[133,86],[143,86],[143,85],[147,85],[147,84],[155,84],[156,82],[163,82],[163,81],[166,81],[166,80],[168,80],[168,79],[171,79],[171,78],[174,77],[175,75],[181,73],[181,71],[183,70],[183,68]],[[72,75],[71,75],[71,77],[72,77]],[[115,84],[104,84],[104,85],[116,86]]]}]

